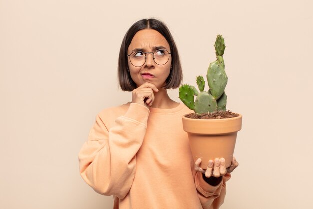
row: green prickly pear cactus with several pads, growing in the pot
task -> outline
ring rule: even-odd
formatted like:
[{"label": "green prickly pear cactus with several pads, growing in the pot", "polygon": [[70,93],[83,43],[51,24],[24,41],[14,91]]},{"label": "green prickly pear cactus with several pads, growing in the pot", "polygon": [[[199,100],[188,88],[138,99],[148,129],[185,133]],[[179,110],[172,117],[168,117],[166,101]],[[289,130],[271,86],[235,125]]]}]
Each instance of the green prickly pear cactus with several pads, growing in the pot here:
[{"label": "green prickly pear cactus with several pads, growing in the pot", "polygon": [[[214,47],[216,60],[209,64],[206,74],[209,90],[204,91],[205,81],[203,76],[197,76],[196,78],[200,93],[194,86],[188,84],[184,84],[179,88],[180,100],[197,114],[226,110],[227,95],[225,88],[228,77],[225,72],[223,58],[226,46],[222,35],[217,35]],[[194,96],[197,96],[195,101]]]}]

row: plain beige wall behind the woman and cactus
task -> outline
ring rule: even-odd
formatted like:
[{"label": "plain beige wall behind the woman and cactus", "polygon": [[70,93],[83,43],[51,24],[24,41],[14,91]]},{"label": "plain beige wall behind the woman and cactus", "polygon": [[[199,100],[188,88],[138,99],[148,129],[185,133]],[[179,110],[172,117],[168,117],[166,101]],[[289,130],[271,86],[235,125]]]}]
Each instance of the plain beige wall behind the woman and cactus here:
[{"label": "plain beige wall behind the woman and cactus", "polygon": [[184,83],[206,74],[216,34],[226,39],[228,108],[244,119],[222,208],[312,208],[312,9],[309,0],[0,0],[0,208],[112,208],[79,176],[77,155],[96,114],[130,100],[117,87],[118,51],[147,17],[172,31]]}]

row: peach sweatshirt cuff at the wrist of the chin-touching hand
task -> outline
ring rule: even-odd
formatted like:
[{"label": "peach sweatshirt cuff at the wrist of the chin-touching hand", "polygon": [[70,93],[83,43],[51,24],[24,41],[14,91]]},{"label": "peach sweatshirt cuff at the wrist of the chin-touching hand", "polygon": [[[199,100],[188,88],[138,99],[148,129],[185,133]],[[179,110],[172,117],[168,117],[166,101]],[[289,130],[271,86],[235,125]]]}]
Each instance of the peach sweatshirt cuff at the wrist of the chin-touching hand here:
[{"label": "peach sweatshirt cuff at the wrist of the chin-touching hand", "polygon": [[137,103],[130,103],[129,108],[125,113],[124,117],[136,120],[139,123],[145,124],[146,126],[149,114],[150,114],[149,108]]}]

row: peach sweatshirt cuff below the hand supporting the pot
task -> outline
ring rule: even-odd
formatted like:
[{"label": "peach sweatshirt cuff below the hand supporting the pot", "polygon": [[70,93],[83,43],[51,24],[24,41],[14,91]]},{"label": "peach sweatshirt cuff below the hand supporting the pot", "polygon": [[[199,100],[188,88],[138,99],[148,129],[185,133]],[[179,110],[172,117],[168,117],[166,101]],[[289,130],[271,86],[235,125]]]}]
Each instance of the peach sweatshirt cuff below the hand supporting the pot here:
[{"label": "peach sweatshirt cuff below the hand supporting the pot", "polygon": [[209,197],[215,194],[219,195],[222,189],[221,184],[223,183],[224,179],[222,179],[218,185],[212,186],[206,183],[206,181],[203,179],[201,172],[197,172],[195,176],[195,180],[196,180],[196,187],[198,191],[200,191],[205,197]]}]

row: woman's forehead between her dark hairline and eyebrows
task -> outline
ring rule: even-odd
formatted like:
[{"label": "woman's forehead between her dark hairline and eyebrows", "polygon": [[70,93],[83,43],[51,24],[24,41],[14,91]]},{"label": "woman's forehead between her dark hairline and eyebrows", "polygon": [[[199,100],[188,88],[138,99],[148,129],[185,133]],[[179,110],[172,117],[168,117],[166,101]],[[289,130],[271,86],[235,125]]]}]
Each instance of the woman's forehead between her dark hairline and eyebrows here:
[{"label": "woman's forehead between her dark hairline and eyebrows", "polygon": [[133,49],[152,50],[155,47],[163,46],[169,50],[169,44],[165,37],[154,29],[143,29],[138,31],[131,40],[128,51]]}]

